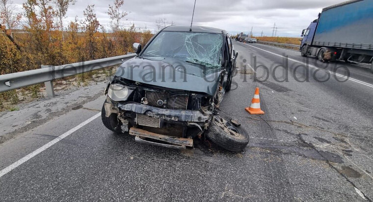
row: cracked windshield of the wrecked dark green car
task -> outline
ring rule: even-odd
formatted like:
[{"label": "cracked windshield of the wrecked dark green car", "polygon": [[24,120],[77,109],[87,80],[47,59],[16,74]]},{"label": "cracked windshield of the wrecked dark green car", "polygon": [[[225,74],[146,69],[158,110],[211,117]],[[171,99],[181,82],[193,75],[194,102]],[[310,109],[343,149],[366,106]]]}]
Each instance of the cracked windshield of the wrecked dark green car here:
[{"label": "cracked windshield of the wrecked dark green car", "polygon": [[223,35],[162,31],[142,53],[143,57],[172,57],[211,68],[221,67]]}]

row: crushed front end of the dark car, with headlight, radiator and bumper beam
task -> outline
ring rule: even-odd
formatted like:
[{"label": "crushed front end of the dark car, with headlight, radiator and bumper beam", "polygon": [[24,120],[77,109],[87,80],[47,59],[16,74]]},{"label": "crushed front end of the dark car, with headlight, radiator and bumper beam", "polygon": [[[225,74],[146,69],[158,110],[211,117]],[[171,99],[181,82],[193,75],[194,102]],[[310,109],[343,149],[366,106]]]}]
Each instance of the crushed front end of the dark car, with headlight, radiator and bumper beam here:
[{"label": "crushed front end of the dark car, with headlight, radiator and bumper beam", "polygon": [[193,146],[213,116],[213,96],[158,87],[115,76],[109,83],[105,115],[115,114],[116,129],[135,140],[169,148]]}]

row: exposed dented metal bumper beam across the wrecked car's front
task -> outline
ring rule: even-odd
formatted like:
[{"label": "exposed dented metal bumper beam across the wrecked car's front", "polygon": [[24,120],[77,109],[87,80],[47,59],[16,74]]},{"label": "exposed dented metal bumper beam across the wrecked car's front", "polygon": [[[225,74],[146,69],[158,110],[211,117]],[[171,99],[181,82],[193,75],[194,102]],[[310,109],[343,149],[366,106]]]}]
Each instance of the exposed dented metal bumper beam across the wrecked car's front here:
[{"label": "exposed dented metal bumper beam across the wrecked car's front", "polygon": [[118,103],[117,108],[119,111],[135,112],[169,121],[206,123],[210,120],[210,116],[207,116],[200,111],[161,109],[136,102],[128,102],[125,104]]}]

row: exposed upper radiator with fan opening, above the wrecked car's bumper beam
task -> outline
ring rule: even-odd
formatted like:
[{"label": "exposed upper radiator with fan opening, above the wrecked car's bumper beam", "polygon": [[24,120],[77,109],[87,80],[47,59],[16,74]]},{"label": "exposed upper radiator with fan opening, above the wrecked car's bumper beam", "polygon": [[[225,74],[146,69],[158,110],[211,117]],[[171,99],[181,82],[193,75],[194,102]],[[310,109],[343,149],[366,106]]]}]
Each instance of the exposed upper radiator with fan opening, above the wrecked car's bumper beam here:
[{"label": "exposed upper radiator with fan opening, above the wrecked car's bumper beam", "polygon": [[[186,110],[188,105],[187,95],[172,95],[169,98],[165,94],[156,91],[146,91],[145,95],[148,105],[173,110]],[[162,102],[158,102],[158,101]]]}]

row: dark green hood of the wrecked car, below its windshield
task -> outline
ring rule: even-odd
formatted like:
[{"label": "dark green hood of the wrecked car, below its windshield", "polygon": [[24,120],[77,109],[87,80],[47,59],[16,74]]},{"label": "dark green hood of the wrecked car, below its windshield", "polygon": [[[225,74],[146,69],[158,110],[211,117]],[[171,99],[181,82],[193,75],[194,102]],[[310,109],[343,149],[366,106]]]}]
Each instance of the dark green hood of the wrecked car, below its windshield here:
[{"label": "dark green hood of the wrecked car, below its windshield", "polygon": [[222,68],[208,68],[174,59],[135,57],[118,67],[115,75],[144,84],[213,95],[222,72]]}]

